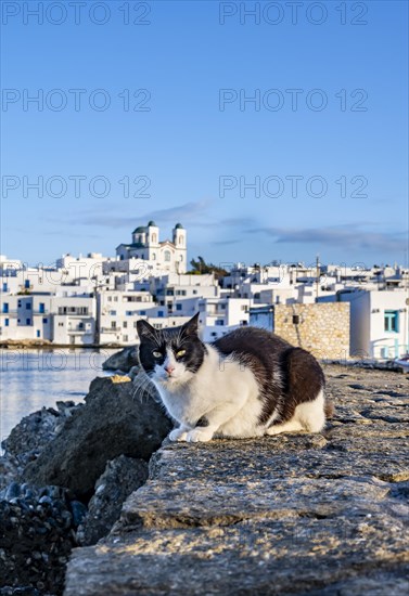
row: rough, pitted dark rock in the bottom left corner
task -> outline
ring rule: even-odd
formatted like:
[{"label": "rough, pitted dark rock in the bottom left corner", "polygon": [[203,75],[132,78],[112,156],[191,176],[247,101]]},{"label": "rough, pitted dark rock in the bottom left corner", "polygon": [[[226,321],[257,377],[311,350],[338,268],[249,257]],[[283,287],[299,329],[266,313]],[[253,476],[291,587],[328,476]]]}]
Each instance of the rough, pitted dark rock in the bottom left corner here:
[{"label": "rough, pitted dark rock in the bottom left corner", "polygon": [[0,492],[1,595],[62,594],[65,566],[76,546],[68,496],[57,487],[17,482]]}]

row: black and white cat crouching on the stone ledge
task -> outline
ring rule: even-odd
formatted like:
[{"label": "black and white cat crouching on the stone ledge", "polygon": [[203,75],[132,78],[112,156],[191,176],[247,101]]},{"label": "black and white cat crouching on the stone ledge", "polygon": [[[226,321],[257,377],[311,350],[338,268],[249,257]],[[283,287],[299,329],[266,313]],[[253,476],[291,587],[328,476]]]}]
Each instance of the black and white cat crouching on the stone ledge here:
[{"label": "black and white cat crouching on the stone ledge", "polygon": [[256,327],[204,344],[197,318],[161,331],[137,323],[141,365],[180,425],[172,441],[322,430],[324,376],[309,352]]}]

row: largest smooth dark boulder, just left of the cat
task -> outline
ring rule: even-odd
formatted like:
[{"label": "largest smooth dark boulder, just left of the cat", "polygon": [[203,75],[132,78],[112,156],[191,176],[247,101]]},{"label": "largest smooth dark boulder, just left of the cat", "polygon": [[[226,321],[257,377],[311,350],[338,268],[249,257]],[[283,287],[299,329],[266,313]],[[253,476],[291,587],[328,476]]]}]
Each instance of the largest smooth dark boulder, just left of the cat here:
[{"label": "largest smooth dark boulder, just left of the cat", "polygon": [[86,405],[24,470],[38,485],[56,484],[89,497],[108,461],[119,455],[149,459],[171,429],[164,410],[128,377],[97,378]]}]

